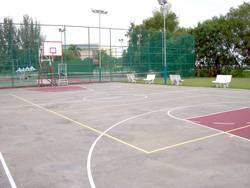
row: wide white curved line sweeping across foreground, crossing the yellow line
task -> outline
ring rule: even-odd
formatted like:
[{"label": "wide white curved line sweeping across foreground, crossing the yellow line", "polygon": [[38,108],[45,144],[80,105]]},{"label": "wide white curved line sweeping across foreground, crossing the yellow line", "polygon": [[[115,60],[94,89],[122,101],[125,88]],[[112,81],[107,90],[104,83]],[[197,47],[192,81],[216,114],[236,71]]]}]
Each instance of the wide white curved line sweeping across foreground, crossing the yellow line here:
[{"label": "wide white curved line sweeping across foreground, crossing the yellow line", "polygon": [[[160,112],[160,111],[164,111],[164,109],[161,109],[161,110],[155,110],[155,111],[150,111],[150,112],[145,112],[143,114],[139,114],[139,115],[135,115],[135,116],[132,116],[132,117],[129,117],[127,119],[124,119],[122,121],[119,121],[118,123],[112,125],[111,127],[109,127],[108,129],[106,129],[102,134],[100,134],[96,139],[95,141],[92,143],[90,149],[89,149],[89,153],[88,153],[88,158],[87,158],[87,173],[88,173],[88,179],[89,179],[89,183],[90,183],[90,186],[91,188],[96,188],[95,186],[95,182],[94,182],[94,179],[93,179],[93,176],[92,176],[92,171],[91,171],[91,158],[92,158],[92,153],[94,151],[94,148],[97,144],[97,142],[104,136],[107,134],[108,131],[110,131],[111,129],[115,128],[116,126],[126,122],[126,121],[129,121],[129,120],[132,120],[132,119],[136,119],[138,117],[141,117],[141,116],[145,116],[145,115],[148,115],[148,114],[151,114],[151,113],[155,113],[155,112]],[[147,152],[148,153],[148,152]]]}]

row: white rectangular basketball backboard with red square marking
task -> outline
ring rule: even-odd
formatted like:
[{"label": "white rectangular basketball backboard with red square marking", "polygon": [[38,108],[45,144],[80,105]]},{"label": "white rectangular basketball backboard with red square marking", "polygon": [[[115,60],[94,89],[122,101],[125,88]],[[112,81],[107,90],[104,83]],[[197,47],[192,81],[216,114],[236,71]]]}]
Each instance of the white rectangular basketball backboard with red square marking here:
[{"label": "white rectangular basketball backboard with red square marking", "polygon": [[44,41],[44,56],[62,56],[62,42],[60,41]]}]

